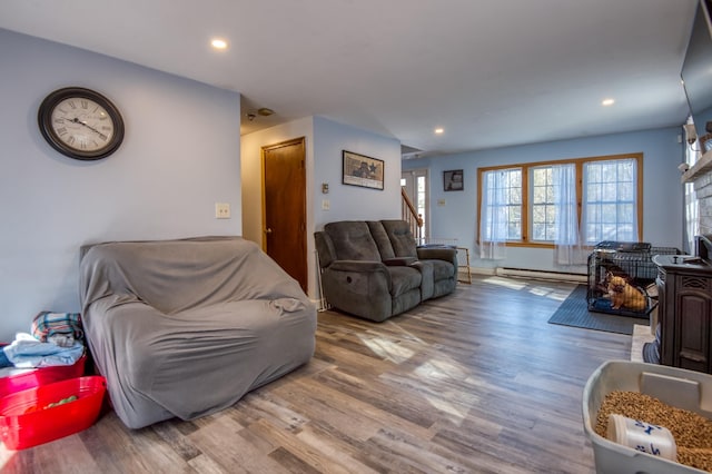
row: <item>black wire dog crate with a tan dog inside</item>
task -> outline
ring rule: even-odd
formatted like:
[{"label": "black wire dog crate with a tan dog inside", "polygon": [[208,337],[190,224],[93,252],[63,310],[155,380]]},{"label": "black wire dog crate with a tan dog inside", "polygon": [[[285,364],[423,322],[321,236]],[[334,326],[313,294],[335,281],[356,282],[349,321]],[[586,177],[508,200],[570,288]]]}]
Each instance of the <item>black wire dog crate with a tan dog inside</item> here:
[{"label": "black wire dog crate with a tan dog inside", "polygon": [[649,295],[657,275],[652,257],[679,254],[676,248],[647,243],[597,244],[589,255],[589,310],[647,318],[656,305]]}]

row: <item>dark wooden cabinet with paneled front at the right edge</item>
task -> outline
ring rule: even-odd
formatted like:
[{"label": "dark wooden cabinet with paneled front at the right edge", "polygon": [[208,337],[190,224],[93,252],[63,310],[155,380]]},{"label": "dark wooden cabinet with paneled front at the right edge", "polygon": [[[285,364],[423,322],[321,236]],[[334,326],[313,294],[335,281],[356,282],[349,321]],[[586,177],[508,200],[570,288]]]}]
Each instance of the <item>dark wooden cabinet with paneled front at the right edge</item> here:
[{"label": "dark wooden cabinet with paneled front at the right edge", "polygon": [[712,267],[659,255],[660,363],[712,373]]}]

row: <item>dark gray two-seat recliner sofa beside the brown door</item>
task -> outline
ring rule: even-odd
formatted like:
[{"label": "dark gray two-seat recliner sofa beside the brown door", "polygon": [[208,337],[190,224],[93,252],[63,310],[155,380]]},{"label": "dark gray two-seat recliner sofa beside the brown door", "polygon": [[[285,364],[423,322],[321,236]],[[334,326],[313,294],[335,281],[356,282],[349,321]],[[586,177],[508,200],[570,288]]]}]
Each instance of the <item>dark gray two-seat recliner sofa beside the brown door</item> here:
[{"label": "dark gray two-seat recliner sofa beside the brown door", "polygon": [[418,247],[405,220],[344,220],[315,233],[322,292],[335,308],[382,322],[457,285],[457,250]]}]

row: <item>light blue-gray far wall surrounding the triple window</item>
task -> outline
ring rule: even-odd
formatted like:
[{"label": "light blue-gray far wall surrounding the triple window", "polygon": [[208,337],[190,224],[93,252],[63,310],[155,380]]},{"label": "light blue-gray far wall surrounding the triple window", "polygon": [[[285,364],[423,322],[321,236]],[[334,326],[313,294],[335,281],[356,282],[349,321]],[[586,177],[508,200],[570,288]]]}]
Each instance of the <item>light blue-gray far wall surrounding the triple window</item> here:
[{"label": "light blue-gray far wall surrounding the triple window", "polygon": [[[678,165],[683,161],[679,142],[681,128],[616,134],[576,140],[500,148],[436,158],[409,159],[403,169],[428,168],[431,171],[431,237],[456,238],[469,248],[473,267],[514,267],[555,271],[585,273],[585,267],[557,267],[551,249],[507,248],[505,260],[478,258],[477,168],[550,161],[626,152],[643,152],[643,234],[642,240],[654,246],[682,248],[682,185]],[[443,190],[443,171],[463,169],[465,190]],[[445,204],[438,206],[437,201]]]}]

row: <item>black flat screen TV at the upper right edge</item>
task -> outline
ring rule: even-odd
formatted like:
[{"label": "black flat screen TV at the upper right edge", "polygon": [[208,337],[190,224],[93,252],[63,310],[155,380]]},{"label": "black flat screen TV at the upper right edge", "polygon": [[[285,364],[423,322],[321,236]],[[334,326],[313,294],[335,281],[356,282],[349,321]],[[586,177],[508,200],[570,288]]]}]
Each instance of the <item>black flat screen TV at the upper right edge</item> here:
[{"label": "black flat screen TV at the upper right edge", "polygon": [[682,66],[682,83],[698,137],[708,131],[712,121],[712,0],[698,4],[685,60]]}]

